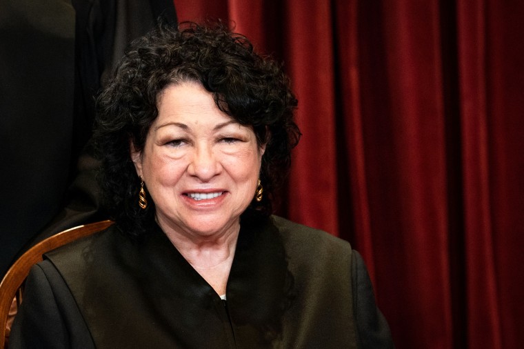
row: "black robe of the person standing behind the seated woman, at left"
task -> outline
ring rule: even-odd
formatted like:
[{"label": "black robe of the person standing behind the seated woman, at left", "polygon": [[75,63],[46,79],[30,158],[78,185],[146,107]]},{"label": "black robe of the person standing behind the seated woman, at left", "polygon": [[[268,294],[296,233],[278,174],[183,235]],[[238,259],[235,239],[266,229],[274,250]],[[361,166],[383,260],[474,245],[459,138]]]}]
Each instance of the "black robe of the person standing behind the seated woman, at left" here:
[{"label": "black robe of the person standing behind the seated woman, at left", "polygon": [[0,0],[0,279],[37,235],[105,219],[94,94],[159,16],[172,0]]}]

